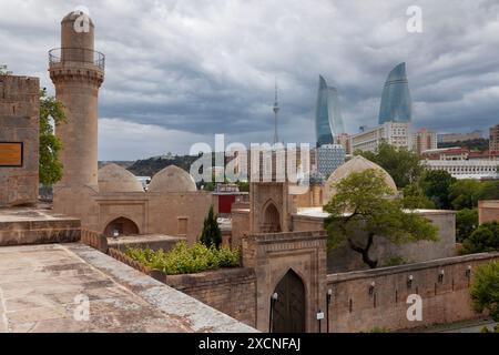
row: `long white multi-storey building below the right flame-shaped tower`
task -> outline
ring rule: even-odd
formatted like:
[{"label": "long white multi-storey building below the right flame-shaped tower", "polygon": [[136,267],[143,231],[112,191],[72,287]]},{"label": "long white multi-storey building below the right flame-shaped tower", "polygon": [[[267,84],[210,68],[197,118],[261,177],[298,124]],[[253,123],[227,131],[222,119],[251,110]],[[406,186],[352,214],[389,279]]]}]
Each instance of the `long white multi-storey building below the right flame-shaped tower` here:
[{"label": "long white multi-storey building below the right flame-shaped tower", "polygon": [[352,135],[352,151],[375,152],[381,141],[397,148],[411,149],[409,134],[410,123],[386,122],[374,129],[365,129],[363,132]]}]

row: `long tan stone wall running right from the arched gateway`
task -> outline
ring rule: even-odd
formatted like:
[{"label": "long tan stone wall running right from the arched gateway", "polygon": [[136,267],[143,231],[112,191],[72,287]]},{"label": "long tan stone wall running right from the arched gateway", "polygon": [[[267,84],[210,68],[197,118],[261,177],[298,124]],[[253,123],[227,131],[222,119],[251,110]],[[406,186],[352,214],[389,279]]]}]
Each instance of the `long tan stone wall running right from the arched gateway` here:
[{"label": "long tan stone wall running right from the arched gateway", "polygon": [[[369,332],[374,327],[406,329],[475,318],[477,314],[469,296],[473,270],[492,260],[499,260],[499,253],[328,275],[327,287],[333,291],[329,332]],[[441,271],[444,277],[439,281]],[[408,284],[410,275],[413,282]],[[373,283],[373,292],[369,292]],[[421,322],[407,320],[410,294],[422,298]]]}]

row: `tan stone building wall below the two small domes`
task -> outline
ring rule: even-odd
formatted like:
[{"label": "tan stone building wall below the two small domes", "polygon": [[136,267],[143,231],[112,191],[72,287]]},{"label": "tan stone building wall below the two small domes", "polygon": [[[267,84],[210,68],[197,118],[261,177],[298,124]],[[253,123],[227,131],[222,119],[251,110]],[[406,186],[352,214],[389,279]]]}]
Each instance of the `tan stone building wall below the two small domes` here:
[{"label": "tan stone building wall below the two small domes", "polygon": [[[116,219],[133,222],[139,234],[184,237],[192,244],[212,203],[210,192],[99,194],[89,186],[54,187],[54,211],[81,219],[82,226],[104,233]],[[75,203],[78,201],[78,203]]]}]

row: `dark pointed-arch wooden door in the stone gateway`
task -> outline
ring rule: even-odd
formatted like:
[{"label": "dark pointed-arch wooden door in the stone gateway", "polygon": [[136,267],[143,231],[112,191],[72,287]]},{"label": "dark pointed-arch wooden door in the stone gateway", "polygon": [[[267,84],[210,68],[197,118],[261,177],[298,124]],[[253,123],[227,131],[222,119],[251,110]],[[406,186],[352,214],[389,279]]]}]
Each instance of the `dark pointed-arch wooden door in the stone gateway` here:
[{"label": "dark pointed-arch wooden door in the stone gateway", "polygon": [[277,300],[273,301],[272,332],[305,332],[305,285],[302,278],[289,270],[275,287]]}]

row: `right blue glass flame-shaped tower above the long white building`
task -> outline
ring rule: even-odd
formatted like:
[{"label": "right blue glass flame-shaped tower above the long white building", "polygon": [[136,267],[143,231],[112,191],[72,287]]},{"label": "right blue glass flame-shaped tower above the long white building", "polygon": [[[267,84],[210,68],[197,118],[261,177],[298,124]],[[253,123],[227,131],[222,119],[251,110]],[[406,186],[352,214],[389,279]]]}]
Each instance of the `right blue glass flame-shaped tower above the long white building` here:
[{"label": "right blue glass flame-shaped tower above the long white building", "polygon": [[413,100],[406,74],[406,63],[395,67],[385,82],[379,108],[379,124],[405,122],[413,119]]}]

